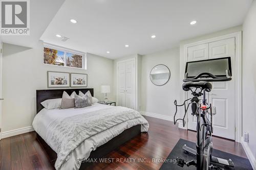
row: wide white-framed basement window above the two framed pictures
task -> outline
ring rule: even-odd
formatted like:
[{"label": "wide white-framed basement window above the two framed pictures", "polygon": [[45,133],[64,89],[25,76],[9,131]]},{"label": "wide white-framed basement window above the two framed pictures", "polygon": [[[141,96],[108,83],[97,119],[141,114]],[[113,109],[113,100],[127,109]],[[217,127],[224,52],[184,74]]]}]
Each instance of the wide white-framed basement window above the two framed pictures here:
[{"label": "wide white-framed basement window above the two framed pictures", "polygon": [[86,69],[86,55],[65,48],[45,45],[44,63]]}]

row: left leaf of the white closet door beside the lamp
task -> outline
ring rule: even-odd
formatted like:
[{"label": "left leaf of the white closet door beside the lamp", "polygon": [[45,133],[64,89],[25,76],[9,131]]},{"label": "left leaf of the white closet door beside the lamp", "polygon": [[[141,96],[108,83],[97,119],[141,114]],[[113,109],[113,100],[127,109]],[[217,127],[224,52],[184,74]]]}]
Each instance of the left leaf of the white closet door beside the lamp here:
[{"label": "left leaf of the white closet door beside the lamp", "polygon": [[118,84],[118,105],[126,106],[125,102],[125,62],[118,63],[118,76],[117,76],[117,84]]}]

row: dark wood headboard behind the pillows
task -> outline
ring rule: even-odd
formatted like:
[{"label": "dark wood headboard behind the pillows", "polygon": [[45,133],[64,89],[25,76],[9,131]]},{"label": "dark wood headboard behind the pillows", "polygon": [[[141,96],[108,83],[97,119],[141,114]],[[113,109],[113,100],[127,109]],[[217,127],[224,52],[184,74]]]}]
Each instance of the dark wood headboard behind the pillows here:
[{"label": "dark wood headboard behind the pillows", "polygon": [[36,113],[44,108],[44,106],[41,105],[41,102],[48,99],[62,98],[63,91],[66,91],[69,95],[75,91],[78,95],[79,91],[86,93],[88,90],[91,92],[92,96],[94,96],[93,88],[36,90]]}]

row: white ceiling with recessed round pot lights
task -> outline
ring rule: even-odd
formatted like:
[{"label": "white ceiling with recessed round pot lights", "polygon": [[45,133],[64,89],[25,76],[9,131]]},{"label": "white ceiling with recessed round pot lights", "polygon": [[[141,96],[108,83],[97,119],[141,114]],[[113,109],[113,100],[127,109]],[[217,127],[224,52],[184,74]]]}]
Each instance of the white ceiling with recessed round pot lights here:
[{"label": "white ceiling with recessed round pot lights", "polygon": [[[41,36],[51,44],[112,59],[144,55],[178,46],[183,39],[241,25],[252,2],[66,0],[61,6],[63,1],[30,1],[31,36],[3,36],[3,41],[32,46]],[[70,19],[78,23],[71,23]],[[190,26],[191,20],[198,22]],[[62,42],[56,34],[70,40]],[[153,34],[155,39],[151,38]],[[124,47],[125,44],[130,46]]]}]

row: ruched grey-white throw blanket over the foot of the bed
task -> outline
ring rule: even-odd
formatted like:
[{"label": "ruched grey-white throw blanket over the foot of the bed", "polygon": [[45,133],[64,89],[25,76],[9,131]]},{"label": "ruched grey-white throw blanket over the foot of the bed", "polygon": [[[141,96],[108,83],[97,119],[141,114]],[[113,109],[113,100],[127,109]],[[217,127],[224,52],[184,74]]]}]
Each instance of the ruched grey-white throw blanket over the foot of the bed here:
[{"label": "ruched grey-white throw blanket over the foot of the bed", "polygon": [[[148,123],[139,112],[120,106],[74,115],[52,122],[46,141],[57,152],[56,169],[61,168],[61,164],[69,159],[69,154],[81,142],[128,120],[132,120],[133,126],[142,125],[142,132],[148,130]],[[108,136],[102,136],[102,138],[106,137]]]}]

